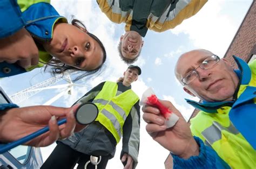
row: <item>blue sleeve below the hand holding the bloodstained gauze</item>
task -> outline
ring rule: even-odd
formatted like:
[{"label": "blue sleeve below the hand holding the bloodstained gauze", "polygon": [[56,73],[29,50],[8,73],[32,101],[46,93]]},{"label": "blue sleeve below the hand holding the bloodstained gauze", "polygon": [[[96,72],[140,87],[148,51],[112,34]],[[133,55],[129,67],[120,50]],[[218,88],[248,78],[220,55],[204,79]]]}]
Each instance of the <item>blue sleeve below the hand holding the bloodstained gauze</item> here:
[{"label": "blue sleeve below the hand holding the bloodstained gauze", "polygon": [[204,145],[200,138],[194,137],[194,139],[200,148],[199,156],[183,159],[171,153],[173,168],[230,168],[211,147]]}]

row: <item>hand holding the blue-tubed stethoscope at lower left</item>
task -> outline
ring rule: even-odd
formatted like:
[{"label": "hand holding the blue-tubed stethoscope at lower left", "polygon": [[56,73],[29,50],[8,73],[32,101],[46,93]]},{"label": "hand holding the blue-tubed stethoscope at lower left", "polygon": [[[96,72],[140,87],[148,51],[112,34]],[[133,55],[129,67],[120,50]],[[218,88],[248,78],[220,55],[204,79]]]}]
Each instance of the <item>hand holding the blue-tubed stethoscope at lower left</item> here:
[{"label": "hand holding the blue-tubed stethoscope at lower left", "polygon": [[[38,105],[24,108],[12,108],[0,112],[0,140],[12,142],[49,125],[50,131],[40,135],[24,145],[48,146],[57,139],[69,137],[73,131],[79,131],[86,125],[77,125],[73,112],[78,108],[59,108]],[[66,117],[67,122],[58,126],[57,120]]]}]

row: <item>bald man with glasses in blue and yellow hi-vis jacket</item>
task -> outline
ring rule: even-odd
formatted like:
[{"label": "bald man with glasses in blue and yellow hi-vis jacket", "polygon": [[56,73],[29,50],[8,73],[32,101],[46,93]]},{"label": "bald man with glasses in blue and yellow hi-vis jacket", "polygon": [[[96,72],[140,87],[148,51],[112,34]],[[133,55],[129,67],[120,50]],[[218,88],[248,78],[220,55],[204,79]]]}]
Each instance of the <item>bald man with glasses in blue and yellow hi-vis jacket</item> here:
[{"label": "bald man with glasses in blue and yellow hi-vis jacket", "polygon": [[143,108],[147,132],[171,152],[174,168],[256,167],[256,60],[250,65],[234,60],[239,69],[206,50],[179,58],[176,78],[186,93],[202,100],[186,100],[201,110],[190,128],[168,101],[161,102],[180,117],[171,129],[158,109]]}]

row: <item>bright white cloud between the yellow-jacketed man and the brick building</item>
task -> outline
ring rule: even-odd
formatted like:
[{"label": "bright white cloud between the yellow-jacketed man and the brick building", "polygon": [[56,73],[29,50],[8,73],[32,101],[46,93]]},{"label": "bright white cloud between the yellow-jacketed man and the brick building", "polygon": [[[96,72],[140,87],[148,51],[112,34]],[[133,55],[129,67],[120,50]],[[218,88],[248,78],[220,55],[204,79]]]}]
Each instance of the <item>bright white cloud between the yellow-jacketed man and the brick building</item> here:
[{"label": "bright white cloud between the yellow-jacketed man and the brick building", "polygon": [[224,55],[240,24],[221,11],[224,5],[222,0],[208,1],[195,16],[171,30],[172,33],[186,33],[197,48]]}]

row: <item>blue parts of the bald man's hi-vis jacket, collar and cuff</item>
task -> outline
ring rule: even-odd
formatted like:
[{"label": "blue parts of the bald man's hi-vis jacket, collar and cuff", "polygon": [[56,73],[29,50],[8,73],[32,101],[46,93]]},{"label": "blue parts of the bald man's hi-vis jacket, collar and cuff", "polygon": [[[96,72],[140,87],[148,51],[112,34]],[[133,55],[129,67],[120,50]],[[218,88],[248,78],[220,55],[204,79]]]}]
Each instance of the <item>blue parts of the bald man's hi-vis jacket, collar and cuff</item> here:
[{"label": "blue parts of the bald man's hi-vis jacket, collar and cuff", "polygon": [[[198,103],[187,100],[187,103],[201,111],[216,113],[217,109],[225,106],[231,107],[229,118],[235,128],[244,136],[248,143],[255,150],[256,147],[256,60],[250,67],[240,58],[234,57],[239,70],[235,70],[239,77],[239,85],[234,93],[234,100],[230,102],[205,102]],[[250,85],[249,85],[250,83]],[[192,122],[191,122],[192,123]],[[211,148],[204,145],[200,138],[196,141],[200,147],[200,154],[197,157],[191,157],[187,160],[181,159],[174,154],[174,168],[230,168]],[[234,161],[235,162],[235,161]]]}]

